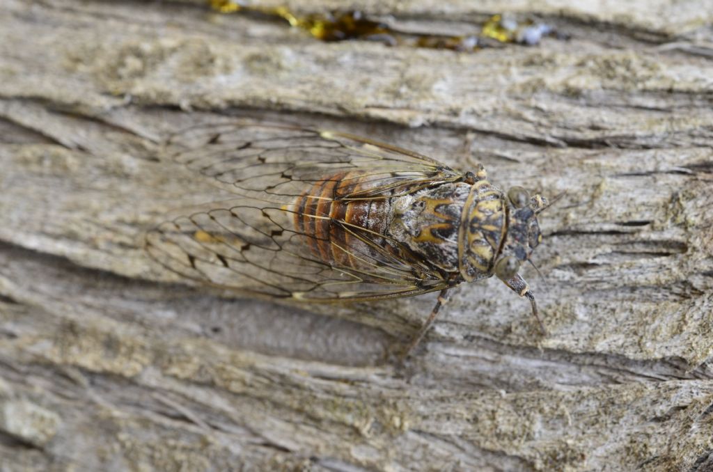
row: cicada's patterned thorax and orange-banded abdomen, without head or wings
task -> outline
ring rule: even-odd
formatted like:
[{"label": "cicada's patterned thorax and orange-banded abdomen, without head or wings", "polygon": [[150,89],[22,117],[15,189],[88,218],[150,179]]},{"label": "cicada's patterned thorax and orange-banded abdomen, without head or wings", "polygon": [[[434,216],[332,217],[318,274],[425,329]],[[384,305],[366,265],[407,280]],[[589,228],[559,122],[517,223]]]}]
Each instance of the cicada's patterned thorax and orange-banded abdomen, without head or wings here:
[{"label": "cicada's patterned thorax and orange-banded abdomen, without head or wings", "polygon": [[[492,275],[506,232],[505,200],[487,180],[398,188],[393,197],[340,200],[368,190],[361,173],[342,173],[315,183],[297,197],[294,225],[308,235],[313,255],[331,264],[360,267],[360,255],[412,257],[453,280]],[[334,221],[345,222],[335,225]],[[369,234],[367,244],[358,232]],[[379,254],[381,253],[381,254]]]}]

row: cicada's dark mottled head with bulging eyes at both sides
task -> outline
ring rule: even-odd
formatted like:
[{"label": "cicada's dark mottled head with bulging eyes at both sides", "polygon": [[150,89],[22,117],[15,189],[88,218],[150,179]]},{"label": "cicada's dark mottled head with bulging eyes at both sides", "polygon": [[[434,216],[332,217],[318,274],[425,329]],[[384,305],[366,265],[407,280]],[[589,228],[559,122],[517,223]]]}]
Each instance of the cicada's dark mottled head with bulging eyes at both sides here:
[{"label": "cicada's dark mottled head with bulging eyes at both sides", "polygon": [[547,207],[547,200],[539,194],[530,196],[522,187],[508,190],[508,222],[503,250],[495,264],[495,275],[508,282],[530,259],[535,247],[542,242],[538,213]]}]

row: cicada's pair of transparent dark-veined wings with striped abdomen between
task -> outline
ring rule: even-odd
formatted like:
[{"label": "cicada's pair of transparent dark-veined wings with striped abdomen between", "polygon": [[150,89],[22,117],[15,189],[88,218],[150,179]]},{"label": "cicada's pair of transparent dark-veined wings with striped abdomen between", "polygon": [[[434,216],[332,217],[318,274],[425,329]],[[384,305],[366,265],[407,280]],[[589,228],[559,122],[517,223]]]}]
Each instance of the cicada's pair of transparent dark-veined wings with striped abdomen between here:
[{"label": "cicada's pair of transparent dark-veined wings with striped abdomen between", "polygon": [[351,135],[235,123],[188,130],[171,150],[237,196],[148,232],[148,253],[181,277],[312,301],[447,286],[427,261],[352,215],[368,208],[388,220],[395,195],[461,177],[434,160]]}]

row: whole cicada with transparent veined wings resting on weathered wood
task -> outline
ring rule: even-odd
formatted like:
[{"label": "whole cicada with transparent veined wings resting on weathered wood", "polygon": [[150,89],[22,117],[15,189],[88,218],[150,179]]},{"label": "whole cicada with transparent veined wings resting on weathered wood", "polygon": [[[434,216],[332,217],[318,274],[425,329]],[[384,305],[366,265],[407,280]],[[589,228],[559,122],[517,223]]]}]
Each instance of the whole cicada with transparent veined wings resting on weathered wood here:
[{"label": "whole cicada with transparent veined wings resting on weathered wood", "polygon": [[242,121],[190,128],[167,149],[235,195],[147,233],[150,256],[180,277],[301,302],[440,292],[406,353],[461,282],[496,275],[538,316],[518,270],[542,240],[546,201],[503,193],[482,166],[463,173],[348,133]]}]

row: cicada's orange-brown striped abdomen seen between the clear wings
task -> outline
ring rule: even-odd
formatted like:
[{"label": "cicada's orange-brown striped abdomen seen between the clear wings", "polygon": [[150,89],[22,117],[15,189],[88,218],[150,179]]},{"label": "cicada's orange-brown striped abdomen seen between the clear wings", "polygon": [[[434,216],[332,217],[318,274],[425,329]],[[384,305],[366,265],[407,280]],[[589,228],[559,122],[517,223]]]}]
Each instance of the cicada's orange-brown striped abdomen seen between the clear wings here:
[{"label": "cicada's orange-brown striped abdomen seen between the clear wings", "polygon": [[[359,267],[360,255],[374,257],[376,249],[356,237],[352,228],[369,230],[369,240],[384,246],[389,199],[340,200],[362,190],[363,173],[340,173],[312,185],[295,201],[294,227],[307,236],[312,254],[324,262]],[[339,222],[342,222],[340,224]]]}]

